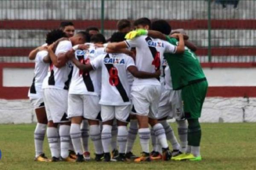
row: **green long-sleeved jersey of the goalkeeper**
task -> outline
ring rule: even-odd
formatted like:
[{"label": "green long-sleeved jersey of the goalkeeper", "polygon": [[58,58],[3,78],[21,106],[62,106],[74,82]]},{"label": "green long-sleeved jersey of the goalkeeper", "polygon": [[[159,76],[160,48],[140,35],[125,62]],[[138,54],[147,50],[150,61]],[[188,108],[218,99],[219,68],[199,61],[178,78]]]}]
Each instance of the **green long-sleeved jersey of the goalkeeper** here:
[{"label": "green long-sleeved jersey of the goalkeeper", "polygon": [[[175,38],[170,38],[169,36],[166,36],[166,38],[172,45],[177,45],[178,40]],[[183,54],[165,53],[164,57],[171,70],[174,90],[193,84],[197,82],[197,80],[205,79],[204,72],[195,53],[190,51],[186,46]]]}]

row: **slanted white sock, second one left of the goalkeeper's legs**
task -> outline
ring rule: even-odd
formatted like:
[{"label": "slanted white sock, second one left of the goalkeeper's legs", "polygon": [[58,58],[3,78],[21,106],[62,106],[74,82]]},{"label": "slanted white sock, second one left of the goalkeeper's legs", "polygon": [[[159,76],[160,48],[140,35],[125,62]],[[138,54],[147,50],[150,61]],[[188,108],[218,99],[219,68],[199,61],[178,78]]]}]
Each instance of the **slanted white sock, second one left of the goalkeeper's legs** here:
[{"label": "slanted white sock, second one left of the goalkeeper's legs", "polygon": [[177,139],[175,137],[175,134],[172,130],[172,127],[169,125],[167,120],[160,121],[159,123],[161,123],[161,125],[163,125],[163,128],[164,128],[165,133],[166,133],[166,138],[167,138],[167,140],[169,140],[171,142],[172,149],[173,150],[180,150],[180,144],[177,141]]}]

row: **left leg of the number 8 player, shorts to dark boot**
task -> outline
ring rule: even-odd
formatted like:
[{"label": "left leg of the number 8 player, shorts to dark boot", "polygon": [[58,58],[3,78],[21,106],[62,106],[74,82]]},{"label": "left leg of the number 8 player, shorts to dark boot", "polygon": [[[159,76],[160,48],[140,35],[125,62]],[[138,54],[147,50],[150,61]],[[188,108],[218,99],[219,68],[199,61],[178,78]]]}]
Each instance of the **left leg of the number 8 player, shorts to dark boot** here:
[{"label": "left leg of the number 8 player, shorts to dark boot", "polygon": [[104,151],[104,161],[111,161],[110,145],[111,145],[111,130],[114,119],[114,106],[101,105],[102,116],[102,146]]}]

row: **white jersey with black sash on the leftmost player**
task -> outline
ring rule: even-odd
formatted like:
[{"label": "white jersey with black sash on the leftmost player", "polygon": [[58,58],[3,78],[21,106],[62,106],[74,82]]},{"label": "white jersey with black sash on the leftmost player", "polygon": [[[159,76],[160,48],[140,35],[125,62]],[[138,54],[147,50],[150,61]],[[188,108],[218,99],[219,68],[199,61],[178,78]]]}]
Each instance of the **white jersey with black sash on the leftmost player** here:
[{"label": "white jersey with black sash on the leftmost player", "polygon": [[48,51],[39,51],[35,56],[34,78],[31,87],[29,88],[28,96],[30,98],[43,98],[42,84],[47,75],[49,64],[43,61],[48,55]]}]

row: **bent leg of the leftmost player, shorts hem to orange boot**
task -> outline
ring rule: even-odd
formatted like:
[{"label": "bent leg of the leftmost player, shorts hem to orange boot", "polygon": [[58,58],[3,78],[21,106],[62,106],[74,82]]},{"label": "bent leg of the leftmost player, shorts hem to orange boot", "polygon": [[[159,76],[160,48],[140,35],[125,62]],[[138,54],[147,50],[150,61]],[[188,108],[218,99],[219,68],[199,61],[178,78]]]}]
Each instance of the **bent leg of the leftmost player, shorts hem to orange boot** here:
[{"label": "bent leg of the leftmost player, shorts hem to orange boot", "polygon": [[43,152],[44,136],[47,128],[47,115],[43,99],[30,99],[35,107],[37,125],[34,132],[35,140],[35,161],[49,161]]}]

